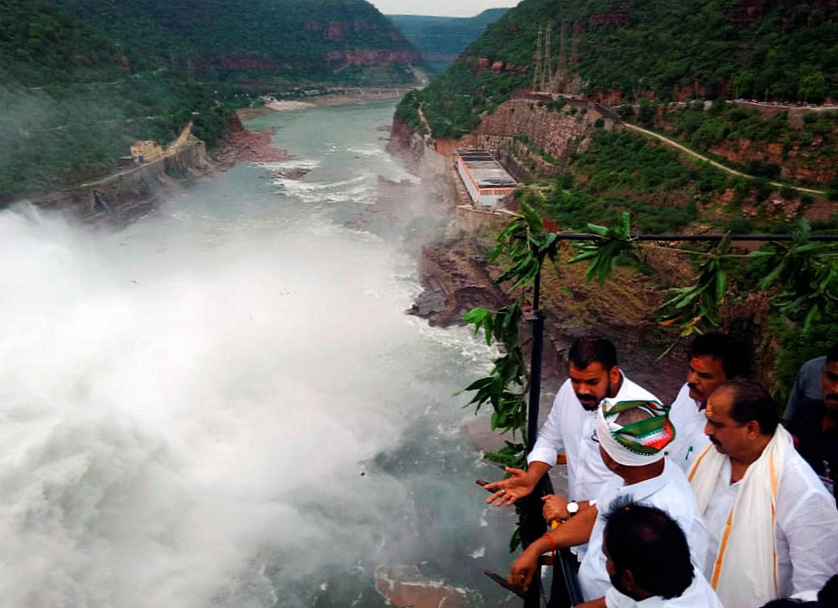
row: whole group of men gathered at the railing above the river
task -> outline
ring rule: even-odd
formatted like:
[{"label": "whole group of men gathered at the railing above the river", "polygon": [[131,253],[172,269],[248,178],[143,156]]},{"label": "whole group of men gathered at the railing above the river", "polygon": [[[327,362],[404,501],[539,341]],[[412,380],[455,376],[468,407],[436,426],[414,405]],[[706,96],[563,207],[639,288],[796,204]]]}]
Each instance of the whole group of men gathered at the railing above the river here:
[{"label": "whole group of men gathered at the railing above the river", "polygon": [[542,498],[554,527],[509,584],[527,588],[541,554],[570,547],[585,608],[838,608],[838,344],[800,369],[782,424],[748,354],[696,337],[665,405],[608,340],[573,343],[526,471],[486,485],[487,502],[511,504],[566,454],[567,495]]}]

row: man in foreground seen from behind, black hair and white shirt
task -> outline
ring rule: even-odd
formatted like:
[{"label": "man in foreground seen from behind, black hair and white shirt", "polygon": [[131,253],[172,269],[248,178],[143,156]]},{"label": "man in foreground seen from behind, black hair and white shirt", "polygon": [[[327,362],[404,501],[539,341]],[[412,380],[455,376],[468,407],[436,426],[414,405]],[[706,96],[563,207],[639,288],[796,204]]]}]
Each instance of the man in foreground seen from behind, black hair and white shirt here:
[{"label": "man in foreground seen from behind, black hair and white shirt", "polygon": [[[605,515],[608,608],[723,608],[690,560],[684,531],[659,508],[625,498]],[[577,606],[577,608],[579,608]]]}]

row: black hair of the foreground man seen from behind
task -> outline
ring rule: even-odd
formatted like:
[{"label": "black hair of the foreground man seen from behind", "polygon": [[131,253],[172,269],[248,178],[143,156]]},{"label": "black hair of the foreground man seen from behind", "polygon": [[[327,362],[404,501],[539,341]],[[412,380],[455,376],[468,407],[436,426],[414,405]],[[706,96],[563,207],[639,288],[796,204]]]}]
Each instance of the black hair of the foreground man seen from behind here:
[{"label": "black hair of the foreground man seen from behind", "polygon": [[618,576],[629,570],[644,591],[665,600],[691,585],[690,546],[667,513],[625,496],[608,506],[605,522],[603,543]]}]

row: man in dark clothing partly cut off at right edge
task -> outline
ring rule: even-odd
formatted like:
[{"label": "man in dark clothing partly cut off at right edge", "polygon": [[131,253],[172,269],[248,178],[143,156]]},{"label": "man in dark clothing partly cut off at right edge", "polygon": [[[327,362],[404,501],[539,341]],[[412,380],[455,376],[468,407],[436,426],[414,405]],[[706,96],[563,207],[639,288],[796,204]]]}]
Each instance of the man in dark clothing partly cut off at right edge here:
[{"label": "man in dark clothing partly cut off at right edge", "polygon": [[838,344],[803,364],[783,417],[800,455],[838,497]]}]

